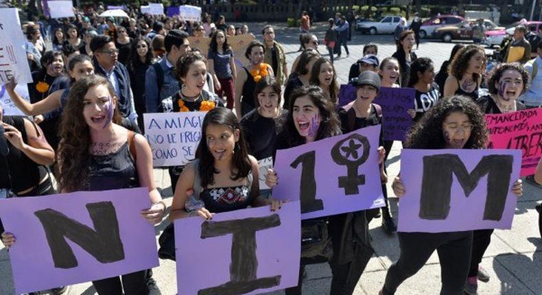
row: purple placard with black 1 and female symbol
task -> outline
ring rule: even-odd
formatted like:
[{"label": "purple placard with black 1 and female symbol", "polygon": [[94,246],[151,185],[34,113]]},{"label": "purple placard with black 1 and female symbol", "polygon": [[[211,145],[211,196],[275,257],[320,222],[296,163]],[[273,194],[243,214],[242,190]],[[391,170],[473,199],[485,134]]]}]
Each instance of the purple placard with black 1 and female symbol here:
[{"label": "purple placard with black 1 and female symbol", "polygon": [[[377,151],[379,134],[380,126],[370,126],[276,151],[274,170],[279,185],[273,188],[274,198],[301,199],[302,220],[383,207]],[[311,191],[316,191],[314,198]],[[301,193],[306,197],[301,198]]]}]

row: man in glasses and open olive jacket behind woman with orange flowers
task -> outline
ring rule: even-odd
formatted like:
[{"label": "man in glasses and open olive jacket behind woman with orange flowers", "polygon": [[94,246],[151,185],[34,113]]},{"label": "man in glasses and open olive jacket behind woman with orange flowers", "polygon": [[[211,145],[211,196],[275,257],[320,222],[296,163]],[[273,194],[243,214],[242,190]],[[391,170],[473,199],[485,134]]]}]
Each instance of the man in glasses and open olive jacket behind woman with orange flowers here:
[{"label": "man in glasses and open olive jacket behind woman with orange flowers", "polygon": [[283,85],[288,77],[288,62],[284,54],[284,47],[274,40],[275,35],[272,25],[263,27],[261,34],[263,34],[263,45],[266,47],[263,62],[271,65],[276,82]]}]

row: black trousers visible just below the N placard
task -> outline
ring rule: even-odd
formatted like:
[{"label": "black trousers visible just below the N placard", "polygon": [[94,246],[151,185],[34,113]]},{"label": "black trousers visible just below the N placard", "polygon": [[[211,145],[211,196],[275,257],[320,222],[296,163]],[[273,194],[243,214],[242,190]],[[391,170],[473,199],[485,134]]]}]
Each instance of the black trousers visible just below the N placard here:
[{"label": "black trousers visible just below the N placard", "polygon": [[146,276],[147,270],[141,270],[123,276],[93,281],[92,284],[99,295],[148,295]]}]

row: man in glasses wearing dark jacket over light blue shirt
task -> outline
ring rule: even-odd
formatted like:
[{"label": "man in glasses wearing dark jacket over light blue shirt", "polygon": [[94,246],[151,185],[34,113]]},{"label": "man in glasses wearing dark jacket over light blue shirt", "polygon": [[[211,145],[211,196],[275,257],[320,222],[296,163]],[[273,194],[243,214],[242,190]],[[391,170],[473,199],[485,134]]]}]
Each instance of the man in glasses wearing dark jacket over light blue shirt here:
[{"label": "man in glasses wearing dark jacket over light blue shirt", "polygon": [[130,75],[128,69],[117,62],[119,49],[115,47],[113,38],[103,35],[95,36],[91,41],[91,50],[94,56],[94,72],[107,78],[115,89],[122,117],[137,122],[134,96],[130,88]]}]

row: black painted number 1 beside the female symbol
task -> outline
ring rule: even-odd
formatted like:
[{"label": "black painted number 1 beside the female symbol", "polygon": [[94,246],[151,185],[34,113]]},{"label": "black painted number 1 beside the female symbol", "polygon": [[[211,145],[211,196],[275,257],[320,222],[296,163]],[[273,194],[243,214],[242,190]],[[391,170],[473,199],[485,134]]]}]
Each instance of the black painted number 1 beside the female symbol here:
[{"label": "black painted number 1 beside the female symbol", "polygon": [[316,180],[314,179],[316,152],[313,150],[299,155],[290,166],[297,168],[299,163],[301,163],[301,182],[299,184],[301,213],[323,210],[322,200],[316,199]]}]

